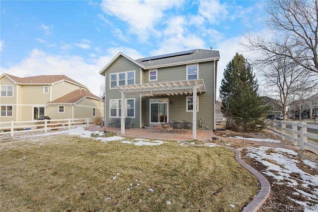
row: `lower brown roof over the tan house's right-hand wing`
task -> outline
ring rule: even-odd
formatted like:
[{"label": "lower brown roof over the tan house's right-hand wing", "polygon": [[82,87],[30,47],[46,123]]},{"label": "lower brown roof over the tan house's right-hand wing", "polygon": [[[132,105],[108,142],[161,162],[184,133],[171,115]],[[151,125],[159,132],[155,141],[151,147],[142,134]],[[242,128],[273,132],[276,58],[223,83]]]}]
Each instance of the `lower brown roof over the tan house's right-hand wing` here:
[{"label": "lower brown roof over the tan house's right-hand wing", "polygon": [[52,102],[48,102],[48,104],[76,104],[85,97],[99,101],[99,97],[93,95],[92,93],[84,89],[78,89],[67,95],[64,95],[63,97],[60,97],[59,99],[56,99]]}]

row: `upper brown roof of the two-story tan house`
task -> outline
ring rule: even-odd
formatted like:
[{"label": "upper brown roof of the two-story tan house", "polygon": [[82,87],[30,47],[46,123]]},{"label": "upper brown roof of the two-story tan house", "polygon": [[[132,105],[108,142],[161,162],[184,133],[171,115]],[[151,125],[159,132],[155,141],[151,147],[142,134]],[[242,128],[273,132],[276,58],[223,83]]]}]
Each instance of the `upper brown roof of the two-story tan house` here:
[{"label": "upper brown roof of the two-story tan house", "polygon": [[20,84],[20,85],[27,85],[27,84],[47,85],[47,84],[55,84],[61,81],[68,81],[70,83],[77,84],[81,87],[86,88],[85,86],[81,85],[79,82],[72,80],[71,78],[65,75],[39,75],[39,76],[23,77],[23,78],[9,75],[9,74],[3,74],[3,75],[5,75],[7,78],[12,80],[16,84]]}]

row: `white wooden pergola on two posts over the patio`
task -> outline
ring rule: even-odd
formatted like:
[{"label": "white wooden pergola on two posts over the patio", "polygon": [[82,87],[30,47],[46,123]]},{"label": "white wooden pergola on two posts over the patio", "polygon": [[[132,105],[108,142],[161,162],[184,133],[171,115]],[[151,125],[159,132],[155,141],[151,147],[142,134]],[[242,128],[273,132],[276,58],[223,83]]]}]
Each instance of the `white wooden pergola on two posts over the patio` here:
[{"label": "white wooden pergola on two posts over the patio", "polygon": [[[117,86],[117,88],[120,89],[122,103],[126,102],[127,94],[143,95],[146,97],[192,94],[193,100],[196,100],[197,93],[206,92],[203,79],[123,85]],[[125,134],[126,104],[122,104],[121,111],[121,134]],[[193,104],[192,114],[192,138],[196,139],[197,104]]]}]

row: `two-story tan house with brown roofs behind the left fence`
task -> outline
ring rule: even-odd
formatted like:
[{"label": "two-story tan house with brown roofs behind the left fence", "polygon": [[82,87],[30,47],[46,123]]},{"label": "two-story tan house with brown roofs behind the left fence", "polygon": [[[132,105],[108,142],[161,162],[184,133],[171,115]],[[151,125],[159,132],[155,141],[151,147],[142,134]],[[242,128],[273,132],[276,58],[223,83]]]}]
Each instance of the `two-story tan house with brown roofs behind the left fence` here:
[{"label": "two-story tan house with brown roofs behind the left fence", "polygon": [[103,103],[88,88],[65,75],[0,76],[1,122],[94,118],[103,113]]}]

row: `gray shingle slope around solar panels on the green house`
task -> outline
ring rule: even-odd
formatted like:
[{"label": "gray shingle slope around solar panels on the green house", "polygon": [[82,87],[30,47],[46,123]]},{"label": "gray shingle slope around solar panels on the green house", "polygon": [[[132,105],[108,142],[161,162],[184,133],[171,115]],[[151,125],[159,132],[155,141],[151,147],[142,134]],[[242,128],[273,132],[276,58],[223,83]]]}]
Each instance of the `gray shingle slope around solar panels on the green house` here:
[{"label": "gray shingle slope around solar panels on the green house", "polygon": [[178,56],[172,56],[167,58],[160,58],[155,60],[148,60],[143,61],[145,58],[140,58],[136,60],[136,62],[144,65],[146,68],[152,67],[152,66],[165,66],[165,65],[172,65],[177,63],[188,63],[188,62],[195,62],[200,60],[214,60],[219,59],[220,53],[219,51],[214,50],[205,50],[205,49],[195,49],[193,53],[191,54],[185,54],[185,55],[178,55]]}]

